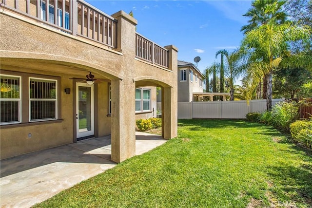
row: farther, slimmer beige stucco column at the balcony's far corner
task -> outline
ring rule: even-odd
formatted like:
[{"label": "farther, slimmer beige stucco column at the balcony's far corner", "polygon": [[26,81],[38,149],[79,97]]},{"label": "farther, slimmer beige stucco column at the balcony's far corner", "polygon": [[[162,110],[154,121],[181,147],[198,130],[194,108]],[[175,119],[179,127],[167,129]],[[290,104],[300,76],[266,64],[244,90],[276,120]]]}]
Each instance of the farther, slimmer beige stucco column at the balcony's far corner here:
[{"label": "farther, slimmer beige stucco column at the balcony's far corner", "polygon": [[162,136],[171,139],[177,136],[177,48],[165,46],[169,53],[168,68],[173,71],[172,87],[162,88]]}]

